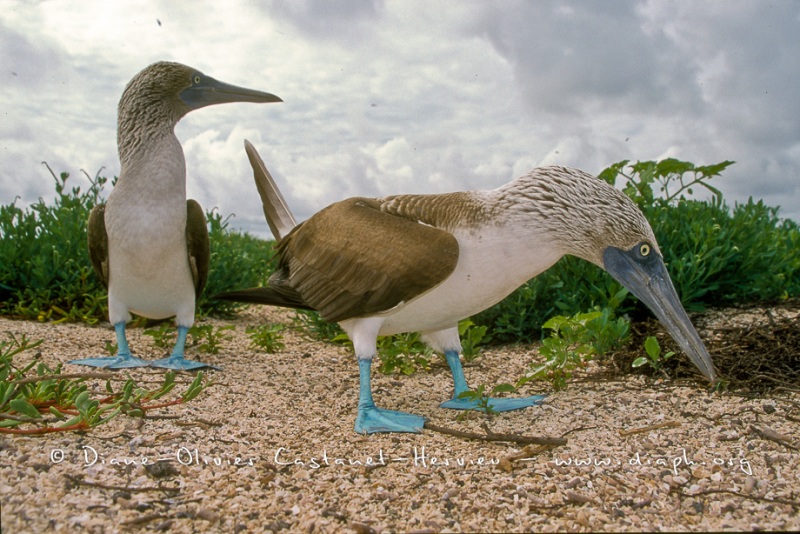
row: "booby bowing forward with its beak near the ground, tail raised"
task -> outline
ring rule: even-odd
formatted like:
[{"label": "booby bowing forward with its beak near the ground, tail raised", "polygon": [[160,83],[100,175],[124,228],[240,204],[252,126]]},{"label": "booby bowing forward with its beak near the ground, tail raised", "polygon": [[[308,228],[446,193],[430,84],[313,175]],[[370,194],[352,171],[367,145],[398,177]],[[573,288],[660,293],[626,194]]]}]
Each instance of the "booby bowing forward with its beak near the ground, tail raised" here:
[{"label": "booby bowing forward with its beak near the ground, tail raised", "polygon": [[[370,367],[378,336],[421,332],[444,353],[453,375],[453,398],[442,406],[476,407],[458,398],[468,390],[459,320],[496,304],[566,254],[608,271],[655,313],[703,375],[716,380],[650,225],[627,196],[599,178],[542,167],[489,191],[351,198],[290,228],[294,218],[277,187],[252,145],[245,146],[265,214],[274,218],[279,263],[268,287],[217,298],[312,309],[338,322],[358,357],[356,432],[416,432],[424,424],[423,417],[375,406]],[[543,398],[491,399],[490,405],[507,411]]]}]

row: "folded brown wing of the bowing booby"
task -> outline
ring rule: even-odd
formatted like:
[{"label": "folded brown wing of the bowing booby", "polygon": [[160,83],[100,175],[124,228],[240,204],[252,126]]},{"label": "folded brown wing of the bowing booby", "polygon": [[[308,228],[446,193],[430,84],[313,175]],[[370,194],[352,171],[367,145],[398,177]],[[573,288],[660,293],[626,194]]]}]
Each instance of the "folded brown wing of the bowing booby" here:
[{"label": "folded brown wing of the bowing booby", "polygon": [[338,322],[389,310],[444,281],[458,262],[455,237],[380,206],[351,198],[297,226],[278,245],[283,273],[270,285],[288,286]]}]

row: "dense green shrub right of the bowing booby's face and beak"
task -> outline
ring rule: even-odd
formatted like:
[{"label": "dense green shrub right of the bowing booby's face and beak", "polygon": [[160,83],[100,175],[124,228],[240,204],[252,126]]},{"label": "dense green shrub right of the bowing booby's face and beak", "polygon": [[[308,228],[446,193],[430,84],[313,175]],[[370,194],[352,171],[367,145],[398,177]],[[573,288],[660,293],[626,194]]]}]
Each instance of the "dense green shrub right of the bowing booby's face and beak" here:
[{"label": "dense green shrub right of the bowing booby's face and beak", "polygon": [[749,200],[681,202],[646,213],[688,310],[768,301],[800,291],[800,230],[777,208]]}]

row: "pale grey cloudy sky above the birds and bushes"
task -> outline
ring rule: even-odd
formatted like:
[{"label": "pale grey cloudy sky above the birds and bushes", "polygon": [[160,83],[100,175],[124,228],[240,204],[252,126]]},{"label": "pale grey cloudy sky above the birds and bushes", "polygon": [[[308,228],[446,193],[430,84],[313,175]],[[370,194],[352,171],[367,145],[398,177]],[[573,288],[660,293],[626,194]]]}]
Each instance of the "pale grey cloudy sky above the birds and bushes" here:
[{"label": "pale grey cloudy sky above the birds and bushes", "polygon": [[800,2],[0,0],[0,202],[41,164],[119,173],[116,106],[158,60],[272,92],[176,129],[187,190],[268,235],[253,142],[300,219],[349,196],[493,188],[563,164],[737,163],[716,185],[800,220]]}]

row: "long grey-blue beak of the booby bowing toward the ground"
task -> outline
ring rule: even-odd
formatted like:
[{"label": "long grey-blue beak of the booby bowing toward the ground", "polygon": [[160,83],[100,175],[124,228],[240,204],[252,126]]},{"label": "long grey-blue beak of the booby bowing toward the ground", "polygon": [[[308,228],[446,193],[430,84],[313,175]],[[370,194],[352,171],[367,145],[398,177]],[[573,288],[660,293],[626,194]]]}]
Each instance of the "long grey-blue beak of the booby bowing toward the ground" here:
[{"label": "long grey-blue beak of the booby bowing toward the ground", "polygon": [[635,257],[636,248],[608,247],[603,253],[605,270],[652,310],[700,372],[715,382],[711,356],[681,305],[664,260],[655,251],[645,259]]}]

